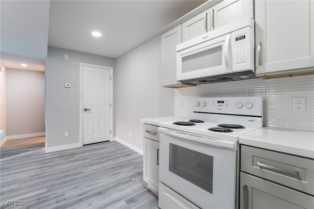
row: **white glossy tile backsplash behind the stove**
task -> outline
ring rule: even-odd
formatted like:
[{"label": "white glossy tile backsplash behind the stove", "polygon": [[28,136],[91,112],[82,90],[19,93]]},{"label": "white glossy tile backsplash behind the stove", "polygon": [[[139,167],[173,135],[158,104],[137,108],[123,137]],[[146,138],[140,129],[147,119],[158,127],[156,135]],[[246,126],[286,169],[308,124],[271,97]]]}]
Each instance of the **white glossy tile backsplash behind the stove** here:
[{"label": "white glossy tile backsplash behind the stove", "polygon": [[[183,99],[183,108],[175,104],[175,116],[192,115],[196,97],[264,97],[265,126],[314,131],[314,76],[262,78],[203,84],[175,90],[175,101]],[[306,98],[306,112],[292,111],[292,98]]]}]

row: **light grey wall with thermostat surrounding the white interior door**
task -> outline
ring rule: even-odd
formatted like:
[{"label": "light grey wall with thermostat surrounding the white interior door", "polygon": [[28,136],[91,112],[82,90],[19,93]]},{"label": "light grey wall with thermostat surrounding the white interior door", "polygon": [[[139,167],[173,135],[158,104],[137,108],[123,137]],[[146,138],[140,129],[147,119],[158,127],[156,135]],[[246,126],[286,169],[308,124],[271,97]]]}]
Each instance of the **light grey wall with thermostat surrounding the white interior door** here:
[{"label": "light grey wall with thermostat surrounding the white interior door", "polygon": [[[69,55],[69,60],[64,59],[64,54]],[[71,145],[79,144],[80,62],[113,67],[115,82],[114,58],[48,47],[45,67],[46,148],[71,148]],[[72,87],[64,88],[65,83],[71,83]],[[115,90],[113,91],[115,96]],[[64,136],[65,131],[69,131],[69,137]]]}]

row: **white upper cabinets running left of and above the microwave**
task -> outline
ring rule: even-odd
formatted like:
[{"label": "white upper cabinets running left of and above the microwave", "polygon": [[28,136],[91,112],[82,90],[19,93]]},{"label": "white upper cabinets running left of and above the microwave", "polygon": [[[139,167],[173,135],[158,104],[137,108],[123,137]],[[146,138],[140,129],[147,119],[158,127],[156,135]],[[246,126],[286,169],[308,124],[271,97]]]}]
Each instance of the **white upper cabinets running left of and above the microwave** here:
[{"label": "white upper cabinets running left of and above the microwave", "polygon": [[[161,84],[181,85],[177,81],[177,45],[245,16],[253,17],[253,0],[223,0],[161,35]],[[201,10],[200,10],[201,11]]]}]

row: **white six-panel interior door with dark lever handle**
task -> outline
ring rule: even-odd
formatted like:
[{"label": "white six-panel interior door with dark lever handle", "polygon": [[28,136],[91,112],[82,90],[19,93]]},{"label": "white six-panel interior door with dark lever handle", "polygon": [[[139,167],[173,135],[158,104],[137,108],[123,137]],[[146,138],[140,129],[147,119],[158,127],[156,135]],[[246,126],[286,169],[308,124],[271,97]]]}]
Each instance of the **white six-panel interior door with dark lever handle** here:
[{"label": "white six-panel interior door with dark lever handle", "polygon": [[110,140],[110,70],[83,66],[83,145]]}]

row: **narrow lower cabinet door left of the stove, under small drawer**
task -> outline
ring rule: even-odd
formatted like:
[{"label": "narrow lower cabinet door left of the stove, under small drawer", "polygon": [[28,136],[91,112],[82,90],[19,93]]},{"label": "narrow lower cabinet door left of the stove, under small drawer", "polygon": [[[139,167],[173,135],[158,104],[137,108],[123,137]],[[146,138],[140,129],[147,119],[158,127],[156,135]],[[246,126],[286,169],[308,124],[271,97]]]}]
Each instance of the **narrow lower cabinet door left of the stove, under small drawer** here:
[{"label": "narrow lower cabinet door left of the stove, under small drawer", "polygon": [[144,137],[143,179],[158,192],[159,182],[159,142]]}]

